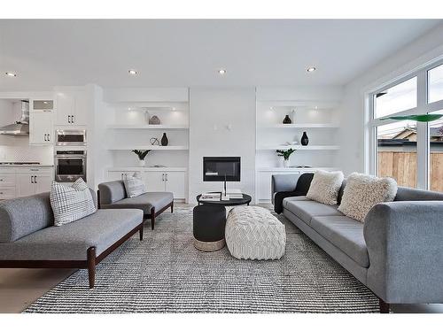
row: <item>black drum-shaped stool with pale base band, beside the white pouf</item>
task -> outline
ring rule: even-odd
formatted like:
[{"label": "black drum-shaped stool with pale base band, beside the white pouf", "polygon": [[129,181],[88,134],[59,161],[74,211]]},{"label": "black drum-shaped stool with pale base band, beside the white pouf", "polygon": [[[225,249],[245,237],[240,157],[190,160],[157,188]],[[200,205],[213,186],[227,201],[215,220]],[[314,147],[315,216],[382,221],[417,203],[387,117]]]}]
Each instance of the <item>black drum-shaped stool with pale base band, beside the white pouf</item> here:
[{"label": "black drum-shaped stool with pale base band, beside the white pouf", "polygon": [[218,251],[225,246],[226,209],[222,205],[198,205],[193,211],[194,246],[199,251]]}]

